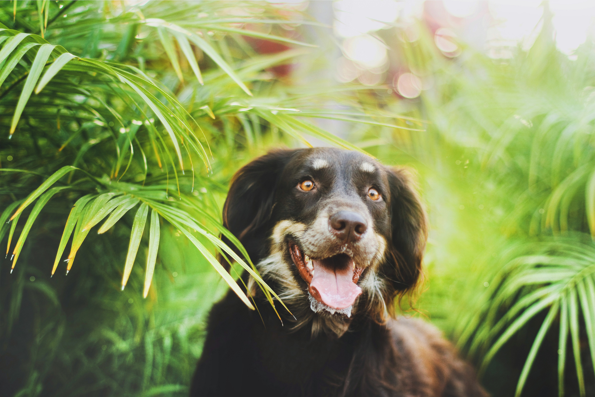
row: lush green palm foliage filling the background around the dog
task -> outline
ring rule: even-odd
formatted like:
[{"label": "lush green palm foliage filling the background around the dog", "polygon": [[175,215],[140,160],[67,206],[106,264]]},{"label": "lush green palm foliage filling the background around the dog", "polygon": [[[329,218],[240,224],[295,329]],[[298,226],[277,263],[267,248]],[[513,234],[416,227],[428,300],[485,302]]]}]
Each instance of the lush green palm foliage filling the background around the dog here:
[{"label": "lush green palm foliage filling the background around the dog", "polygon": [[[560,54],[544,7],[536,43],[505,60],[462,42],[458,57],[444,57],[422,21],[406,27],[418,30],[413,42],[399,21],[379,31],[399,67],[434,81],[419,98],[403,99],[386,86],[334,86],[320,39],[328,29],[295,9],[4,2],[3,394],[186,395],[205,316],[227,290],[186,233],[216,254],[221,247],[208,235],[221,232],[234,171],[268,148],[315,138],[415,170],[431,233],[426,281],[412,306],[483,369],[494,395],[593,395],[595,53],[588,40],[577,60]],[[4,51],[18,32],[39,36],[19,36]],[[264,39],[287,47],[265,54],[254,41]],[[44,80],[60,57],[68,62]],[[39,80],[27,85],[36,65]],[[37,82],[46,85],[34,90]],[[27,86],[30,98],[19,102]],[[64,166],[78,170],[65,169],[54,185],[64,189],[37,208],[21,239],[33,205],[20,223],[4,221]],[[159,215],[145,299],[150,217],[121,291],[139,232],[131,209],[101,235],[74,230],[84,239],[76,263],[65,277],[62,260],[71,255],[58,255],[50,278],[74,203],[105,193],[133,195]],[[83,215],[79,223],[89,221]],[[231,277],[241,271],[234,265]]]}]

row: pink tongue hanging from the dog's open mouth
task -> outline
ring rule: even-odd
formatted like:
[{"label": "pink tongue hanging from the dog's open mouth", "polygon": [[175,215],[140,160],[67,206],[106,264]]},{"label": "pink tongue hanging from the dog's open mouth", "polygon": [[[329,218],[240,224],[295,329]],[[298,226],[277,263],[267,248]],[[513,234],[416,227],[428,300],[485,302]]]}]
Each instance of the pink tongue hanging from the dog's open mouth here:
[{"label": "pink tongue hanging from the dog's open mouth", "polygon": [[314,298],[334,309],[350,307],[362,289],[353,282],[353,262],[350,260],[343,267],[327,267],[322,261],[312,261],[314,277],[310,288],[314,289]]}]

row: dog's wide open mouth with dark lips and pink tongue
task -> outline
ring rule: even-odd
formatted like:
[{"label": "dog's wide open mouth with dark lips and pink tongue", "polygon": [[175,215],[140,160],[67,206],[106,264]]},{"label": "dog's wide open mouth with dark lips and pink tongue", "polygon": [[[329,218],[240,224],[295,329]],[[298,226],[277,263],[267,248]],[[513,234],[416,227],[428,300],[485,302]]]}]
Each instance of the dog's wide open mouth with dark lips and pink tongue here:
[{"label": "dog's wide open mouth with dark lips and pink tongue", "polygon": [[293,242],[289,243],[289,251],[297,271],[308,283],[310,295],[333,312],[350,308],[355,298],[362,293],[356,283],[364,268],[358,267],[349,255],[308,258]]}]

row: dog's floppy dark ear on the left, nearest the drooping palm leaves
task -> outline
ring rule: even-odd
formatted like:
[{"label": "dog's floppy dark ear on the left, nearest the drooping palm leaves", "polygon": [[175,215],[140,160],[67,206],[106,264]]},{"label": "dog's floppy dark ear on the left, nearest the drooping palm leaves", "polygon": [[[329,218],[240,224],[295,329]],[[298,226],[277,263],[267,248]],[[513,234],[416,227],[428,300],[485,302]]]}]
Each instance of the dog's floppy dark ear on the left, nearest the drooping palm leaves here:
[{"label": "dog's floppy dark ear on the left, nearest the drooping palm leaves", "polygon": [[[250,259],[262,254],[279,176],[300,149],[277,149],[240,168],[231,180],[223,207],[223,226],[242,242]],[[222,237],[229,246],[233,244]],[[239,254],[239,252],[238,252]]]}]

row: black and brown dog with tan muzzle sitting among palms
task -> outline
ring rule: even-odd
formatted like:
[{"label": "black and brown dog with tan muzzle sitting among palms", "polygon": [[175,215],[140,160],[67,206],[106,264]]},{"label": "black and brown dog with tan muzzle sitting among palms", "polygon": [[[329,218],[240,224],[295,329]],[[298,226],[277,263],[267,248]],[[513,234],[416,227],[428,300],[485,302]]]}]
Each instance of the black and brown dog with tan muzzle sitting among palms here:
[{"label": "black and brown dog with tan muzzle sitting among palms", "polygon": [[223,220],[296,319],[279,310],[282,325],[253,280],[260,312],[230,291],[192,396],[486,395],[437,329],[395,317],[427,239],[405,171],[354,151],[272,151],[238,171]]}]

